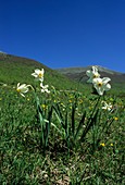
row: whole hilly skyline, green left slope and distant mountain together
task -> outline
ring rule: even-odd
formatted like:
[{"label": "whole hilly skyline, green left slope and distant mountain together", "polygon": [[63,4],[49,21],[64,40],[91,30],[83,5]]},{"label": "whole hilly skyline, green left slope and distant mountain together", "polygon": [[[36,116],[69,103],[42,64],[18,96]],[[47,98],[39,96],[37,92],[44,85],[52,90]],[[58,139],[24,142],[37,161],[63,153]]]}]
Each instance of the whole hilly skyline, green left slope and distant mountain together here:
[{"label": "whole hilly skyline, green left slope and distant mountain together", "polygon": [[[67,67],[52,70],[45,64],[22,57],[16,57],[0,52],[0,84],[16,85],[26,83],[35,85],[35,81],[30,75],[35,69],[45,69],[45,83],[54,86],[58,89],[79,89],[82,91],[90,91],[90,86],[86,83],[87,67]],[[110,77],[112,89],[125,94],[125,74],[111,71],[109,69],[98,66],[101,76]]]}]

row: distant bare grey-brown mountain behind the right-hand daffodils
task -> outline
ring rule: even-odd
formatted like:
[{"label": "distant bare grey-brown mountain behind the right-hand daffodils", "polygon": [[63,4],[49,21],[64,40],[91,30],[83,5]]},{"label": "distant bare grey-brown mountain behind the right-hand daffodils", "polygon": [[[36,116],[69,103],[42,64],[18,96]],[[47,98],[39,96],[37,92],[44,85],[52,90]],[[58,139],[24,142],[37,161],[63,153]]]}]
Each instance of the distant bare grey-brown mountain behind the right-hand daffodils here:
[{"label": "distant bare grey-brown mountain behind the right-hand daffodils", "polygon": [[[115,72],[99,65],[96,66],[98,67],[101,77],[110,77],[113,84],[125,84],[125,73]],[[91,70],[91,65],[86,67],[64,67],[58,69],[57,71],[70,79],[85,83],[88,79],[86,75],[87,70]]]}]

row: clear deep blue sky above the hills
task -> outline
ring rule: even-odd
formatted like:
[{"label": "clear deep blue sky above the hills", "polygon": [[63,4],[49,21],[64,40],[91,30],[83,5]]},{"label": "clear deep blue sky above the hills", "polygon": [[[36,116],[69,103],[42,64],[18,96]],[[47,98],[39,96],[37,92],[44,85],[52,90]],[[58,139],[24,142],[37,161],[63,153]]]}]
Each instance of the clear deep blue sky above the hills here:
[{"label": "clear deep blue sky above the hills", "polygon": [[0,51],[125,72],[125,0],[1,0]]}]

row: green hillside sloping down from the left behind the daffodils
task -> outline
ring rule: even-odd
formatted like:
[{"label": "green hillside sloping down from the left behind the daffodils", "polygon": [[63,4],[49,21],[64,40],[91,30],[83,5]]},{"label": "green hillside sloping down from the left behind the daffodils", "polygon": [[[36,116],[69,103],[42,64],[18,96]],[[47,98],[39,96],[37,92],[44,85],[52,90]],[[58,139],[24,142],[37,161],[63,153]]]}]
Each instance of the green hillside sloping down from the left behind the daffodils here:
[{"label": "green hillside sloping down from the left behind the daffodils", "polygon": [[[59,89],[75,89],[77,83],[49,69],[40,62],[0,52],[0,83],[16,85],[20,83],[35,84],[30,75],[35,69],[45,69],[45,83]],[[83,85],[80,85],[83,87]]]}]

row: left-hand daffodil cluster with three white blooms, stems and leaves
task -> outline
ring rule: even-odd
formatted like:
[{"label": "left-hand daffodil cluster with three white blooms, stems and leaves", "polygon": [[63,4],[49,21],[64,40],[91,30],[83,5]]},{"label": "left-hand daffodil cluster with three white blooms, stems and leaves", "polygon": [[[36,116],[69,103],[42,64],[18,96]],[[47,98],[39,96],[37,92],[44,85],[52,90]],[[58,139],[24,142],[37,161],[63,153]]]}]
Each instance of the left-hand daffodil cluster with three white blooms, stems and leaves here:
[{"label": "left-hand daffodil cluster with three white blooms, stems and leaves", "polygon": [[[43,83],[43,73],[45,73],[43,69],[42,70],[37,69],[37,70],[35,70],[35,73],[33,73],[32,75],[40,83],[41,92],[49,94],[50,91],[48,90],[48,85],[42,84]],[[49,120],[46,120],[43,111],[46,111],[46,109],[48,107],[46,104],[42,104],[42,106],[40,104],[39,97],[37,96],[37,92],[36,92],[37,88],[35,89],[32,85],[26,85],[26,84],[20,85],[20,83],[18,83],[17,87],[16,87],[16,91],[18,94],[21,94],[23,97],[25,97],[25,94],[29,90],[29,88],[32,88],[34,96],[35,96],[35,100],[36,100],[37,115],[39,118],[38,122],[40,124],[40,136],[39,136],[40,145],[42,145],[43,149],[46,149],[46,147],[48,145],[48,136],[49,136],[49,131],[50,131],[50,119],[52,115],[52,111],[50,113],[51,115],[49,114],[49,116],[50,116]],[[46,131],[46,134],[45,134],[45,131]]]}]

